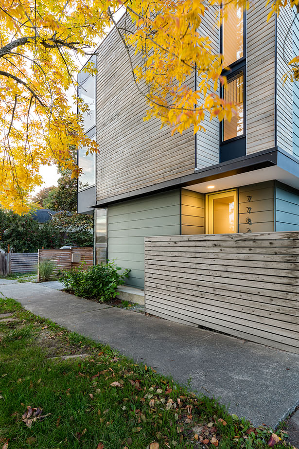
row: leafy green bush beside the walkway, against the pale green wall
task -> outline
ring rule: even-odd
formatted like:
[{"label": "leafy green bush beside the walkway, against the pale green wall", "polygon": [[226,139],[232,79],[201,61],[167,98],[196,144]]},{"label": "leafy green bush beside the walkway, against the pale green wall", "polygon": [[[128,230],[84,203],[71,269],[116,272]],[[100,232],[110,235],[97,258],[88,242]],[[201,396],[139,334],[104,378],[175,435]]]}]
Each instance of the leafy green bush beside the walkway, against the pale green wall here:
[{"label": "leafy green bush beside the walkway, against the pale green wall", "polygon": [[117,287],[124,284],[129,269],[119,273],[120,267],[114,262],[93,265],[89,269],[70,269],[60,273],[60,282],[75,295],[82,298],[96,298],[109,301],[118,294]]}]

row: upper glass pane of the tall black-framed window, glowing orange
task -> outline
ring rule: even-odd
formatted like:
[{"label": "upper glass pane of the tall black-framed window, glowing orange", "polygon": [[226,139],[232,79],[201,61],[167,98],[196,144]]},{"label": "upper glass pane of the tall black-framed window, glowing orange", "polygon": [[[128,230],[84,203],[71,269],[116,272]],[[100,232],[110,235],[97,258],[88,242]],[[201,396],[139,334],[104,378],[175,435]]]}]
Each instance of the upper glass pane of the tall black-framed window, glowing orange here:
[{"label": "upper glass pane of the tall black-framed window, glowing orange", "polygon": [[243,8],[233,4],[229,4],[227,8],[227,16],[222,21],[222,53],[225,67],[244,56]]}]

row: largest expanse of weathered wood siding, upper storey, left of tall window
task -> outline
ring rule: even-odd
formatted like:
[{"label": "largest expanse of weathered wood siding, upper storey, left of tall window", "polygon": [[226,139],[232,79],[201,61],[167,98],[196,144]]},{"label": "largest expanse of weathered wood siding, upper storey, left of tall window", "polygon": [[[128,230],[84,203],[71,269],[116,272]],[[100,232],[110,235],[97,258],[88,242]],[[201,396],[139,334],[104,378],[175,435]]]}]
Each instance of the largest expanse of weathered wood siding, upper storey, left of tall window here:
[{"label": "largest expanse of weathered wood siding, upper storey, left of tall window", "polygon": [[[134,66],[138,58],[132,51]],[[99,47],[97,67],[97,200],[193,173],[193,130],[171,136],[171,129],[160,129],[157,119],[143,121],[146,99],[134,83],[115,29]],[[194,77],[189,82],[193,86]],[[146,91],[142,84],[140,88]]]}]

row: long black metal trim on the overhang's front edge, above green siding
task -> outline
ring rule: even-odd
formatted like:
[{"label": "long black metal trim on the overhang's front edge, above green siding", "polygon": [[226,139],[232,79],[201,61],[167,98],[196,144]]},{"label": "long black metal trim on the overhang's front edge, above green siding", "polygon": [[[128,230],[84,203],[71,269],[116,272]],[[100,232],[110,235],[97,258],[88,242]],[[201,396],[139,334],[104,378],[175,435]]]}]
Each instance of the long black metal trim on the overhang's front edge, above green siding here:
[{"label": "long black metal trim on the overhang's front edge, above green siding", "polygon": [[140,198],[147,195],[154,195],[166,190],[172,190],[198,184],[198,182],[212,181],[232,175],[237,175],[240,173],[258,170],[265,167],[271,167],[277,165],[277,159],[278,149],[276,147],[270,148],[258,153],[249,154],[244,157],[212,165],[211,167],[198,169],[191,175],[181,176],[173,180],[163,181],[148,187],[143,187],[141,189],[136,189],[120,195],[115,195],[114,197],[104,198],[97,201],[96,204],[90,207],[104,207],[108,204]]}]

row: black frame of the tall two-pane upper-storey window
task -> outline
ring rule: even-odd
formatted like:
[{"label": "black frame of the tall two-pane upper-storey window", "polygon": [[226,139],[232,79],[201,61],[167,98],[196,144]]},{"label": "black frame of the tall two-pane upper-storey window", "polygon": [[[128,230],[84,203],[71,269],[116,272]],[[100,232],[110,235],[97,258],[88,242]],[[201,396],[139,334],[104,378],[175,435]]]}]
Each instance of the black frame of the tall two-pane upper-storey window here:
[{"label": "black frame of the tall two-pane upper-storey window", "polygon": [[[222,7],[222,6],[221,6]],[[240,136],[232,137],[231,139],[223,140],[223,120],[220,122],[219,126],[219,145],[229,144],[230,142],[235,142],[239,139],[244,139],[246,137],[246,10],[243,11],[243,57],[234,61],[230,64],[229,70],[223,70],[221,74],[227,77],[229,81],[239,72],[243,71],[243,134]],[[223,53],[223,27],[220,26],[220,53]],[[220,98],[223,98],[224,88],[220,86]]]}]

